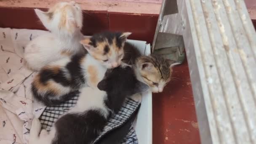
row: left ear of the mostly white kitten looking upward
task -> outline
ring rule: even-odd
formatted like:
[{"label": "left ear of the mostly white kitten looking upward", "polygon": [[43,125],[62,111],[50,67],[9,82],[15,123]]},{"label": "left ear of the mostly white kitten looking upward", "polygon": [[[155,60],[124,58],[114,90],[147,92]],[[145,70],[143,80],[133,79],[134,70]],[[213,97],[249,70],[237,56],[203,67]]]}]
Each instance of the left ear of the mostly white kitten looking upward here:
[{"label": "left ear of the mostly white kitten looking upward", "polygon": [[49,20],[51,20],[52,17],[53,17],[53,13],[51,13],[51,12],[44,12],[44,11],[41,11],[39,9],[35,9],[35,13],[36,13],[37,17],[40,19],[40,21],[43,23],[45,28],[49,29],[48,28],[48,24],[50,22]]}]

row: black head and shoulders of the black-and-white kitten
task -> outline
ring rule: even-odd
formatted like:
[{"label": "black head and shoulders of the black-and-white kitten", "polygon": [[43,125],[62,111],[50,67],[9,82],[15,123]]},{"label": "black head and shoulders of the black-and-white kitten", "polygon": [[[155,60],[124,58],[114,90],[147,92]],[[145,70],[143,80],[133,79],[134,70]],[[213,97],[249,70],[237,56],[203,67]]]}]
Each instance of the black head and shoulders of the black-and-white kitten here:
[{"label": "black head and shoulders of the black-and-white kitten", "polygon": [[139,82],[133,69],[127,66],[109,69],[104,79],[99,82],[98,88],[107,92],[107,99],[104,102],[109,109],[116,113],[120,110],[126,97],[146,91],[148,86]]}]

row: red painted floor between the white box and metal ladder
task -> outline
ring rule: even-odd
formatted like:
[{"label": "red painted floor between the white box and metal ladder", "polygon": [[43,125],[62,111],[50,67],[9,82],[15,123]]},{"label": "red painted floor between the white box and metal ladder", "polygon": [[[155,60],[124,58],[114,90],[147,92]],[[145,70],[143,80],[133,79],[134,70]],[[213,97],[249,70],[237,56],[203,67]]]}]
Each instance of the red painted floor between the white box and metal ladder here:
[{"label": "red painted floor between the white box and metal ladder", "polygon": [[187,61],[172,77],[163,93],[153,94],[153,144],[200,144]]}]

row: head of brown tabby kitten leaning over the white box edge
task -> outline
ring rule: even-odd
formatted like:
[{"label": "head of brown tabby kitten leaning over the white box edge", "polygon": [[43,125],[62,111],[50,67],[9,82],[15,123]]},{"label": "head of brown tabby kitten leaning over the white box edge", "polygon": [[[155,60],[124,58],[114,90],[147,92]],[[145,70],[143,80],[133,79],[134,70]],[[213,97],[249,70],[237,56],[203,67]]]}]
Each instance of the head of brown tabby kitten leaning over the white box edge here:
[{"label": "head of brown tabby kitten leaning over the white box edge", "polygon": [[153,93],[159,93],[171,80],[173,66],[178,64],[181,63],[151,54],[138,57],[134,69],[138,80],[146,83]]}]

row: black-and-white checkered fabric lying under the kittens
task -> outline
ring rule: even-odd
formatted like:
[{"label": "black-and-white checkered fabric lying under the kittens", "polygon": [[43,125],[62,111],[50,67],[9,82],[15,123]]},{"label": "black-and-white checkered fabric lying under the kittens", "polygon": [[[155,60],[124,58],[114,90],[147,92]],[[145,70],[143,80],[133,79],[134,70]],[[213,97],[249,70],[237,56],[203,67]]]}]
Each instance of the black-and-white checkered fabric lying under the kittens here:
[{"label": "black-and-white checkered fabric lying under the kittens", "polygon": [[[60,115],[63,115],[64,112],[67,112],[71,107],[74,107],[77,102],[78,96],[72,97],[68,101],[63,104],[54,105],[51,107],[46,107],[43,114],[39,117],[42,128],[46,130],[50,130],[53,123],[58,119]],[[120,109],[120,111],[116,115],[112,115],[112,117],[108,120],[107,125],[104,127],[101,135],[93,142],[95,144],[102,136],[104,136],[108,131],[112,131],[113,129],[123,125],[128,118],[131,117],[133,112],[139,107],[140,103],[134,101],[133,99],[127,98]],[[133,128],[130,128],[128,135],[122,141],[124,144],[138,144],[137,136]]]}]

